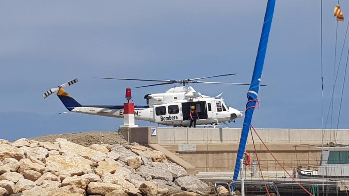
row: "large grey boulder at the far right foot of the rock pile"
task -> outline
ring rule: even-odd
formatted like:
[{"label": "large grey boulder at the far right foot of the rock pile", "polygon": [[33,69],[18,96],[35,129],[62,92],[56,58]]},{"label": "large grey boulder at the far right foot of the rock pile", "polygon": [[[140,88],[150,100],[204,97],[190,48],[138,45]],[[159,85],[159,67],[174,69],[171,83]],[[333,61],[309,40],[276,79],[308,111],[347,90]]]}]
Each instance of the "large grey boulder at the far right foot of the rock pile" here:
[{"label": "large grey boulder at the far right foot of the rock pile", "polygon": [[205,182],[202,182],[195,176],[181,176],[174,181],[182,190],[199,190],[205,194],[210,193],[211,188]]}]

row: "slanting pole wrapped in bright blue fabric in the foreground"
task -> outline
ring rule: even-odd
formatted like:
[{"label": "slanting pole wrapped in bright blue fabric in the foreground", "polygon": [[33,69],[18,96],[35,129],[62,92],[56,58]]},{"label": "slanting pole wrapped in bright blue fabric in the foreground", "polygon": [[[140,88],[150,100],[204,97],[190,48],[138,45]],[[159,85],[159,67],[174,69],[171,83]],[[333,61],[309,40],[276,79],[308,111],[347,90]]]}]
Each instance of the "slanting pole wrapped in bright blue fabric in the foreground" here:
[{"label": "slanting pole wrapped in bright blue fabric in the foreground", "polygon": [[[247,91],[245,119],[244,119],[244,125],[243,125],[241,138],[240,138],[239,150],[236,157],[233,181],[236,181],[239,175],[240,159],[242,159],[244,156],[247,136],[250,130],[250,125],[252,120],[252,115],[257,102],[259,83],[260,83],[260,78],[262,76],[263,64],[264,64],[265,54],[267,51],[269,32],[270,32],[270,27],[272,25],[273,14],[274,14],[274,7],[275,7],[275,0],[268,0],[267,9],[264,16],[262,34],[261,34],[261,38],[258,46],[257,57],[254,63],[252,81],[251,81],[250,89],[248,89]],[[233,184],[233,190],[235,189],[235,186],[236,184]]]}]

